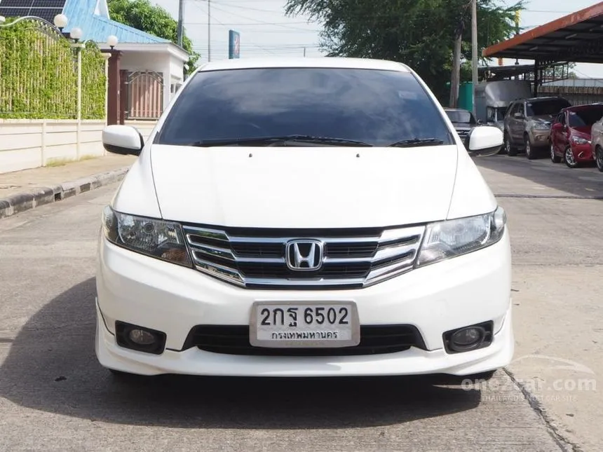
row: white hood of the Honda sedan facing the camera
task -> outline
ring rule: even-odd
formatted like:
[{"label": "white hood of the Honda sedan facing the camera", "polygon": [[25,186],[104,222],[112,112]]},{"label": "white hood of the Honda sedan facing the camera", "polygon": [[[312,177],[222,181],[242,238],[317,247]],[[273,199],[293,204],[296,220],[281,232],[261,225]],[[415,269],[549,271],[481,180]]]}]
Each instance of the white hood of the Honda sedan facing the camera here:
[{"label": "white hood of the Honda sedan facing the camera", "polygon": [[395,226],[445,219],[456,146],[151,145],[161,216],[271,228]]}]

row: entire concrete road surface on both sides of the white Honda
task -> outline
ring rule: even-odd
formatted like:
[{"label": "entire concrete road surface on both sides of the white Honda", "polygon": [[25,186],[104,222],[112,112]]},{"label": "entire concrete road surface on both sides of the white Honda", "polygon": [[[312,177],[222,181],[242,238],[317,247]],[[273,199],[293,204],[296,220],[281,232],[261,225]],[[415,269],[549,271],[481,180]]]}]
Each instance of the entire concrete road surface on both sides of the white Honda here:
[{"label": "entire concrete road surface on both sides of the white Honda", "polygon": [[0,450],[603,450],[603,204],[592,199],[603,174],[477,161],[508,212],[517,345],[506,371],[471,388],[114,380],[94,357],[93,276],[98,219],[116,185],[0,220]]}]

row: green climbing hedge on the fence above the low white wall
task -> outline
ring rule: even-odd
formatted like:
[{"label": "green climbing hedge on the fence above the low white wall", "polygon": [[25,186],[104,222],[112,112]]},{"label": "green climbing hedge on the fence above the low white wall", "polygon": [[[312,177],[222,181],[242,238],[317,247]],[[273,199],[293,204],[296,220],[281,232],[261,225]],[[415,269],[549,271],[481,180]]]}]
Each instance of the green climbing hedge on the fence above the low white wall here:
[{"label": "green climbing hedge on the fence above the low white wall", "polygon": [[[0,28],[0,118],[77,117],[76,50],[41,22]],[[104,59],[82,49],[82,118],[105,117]]]}]

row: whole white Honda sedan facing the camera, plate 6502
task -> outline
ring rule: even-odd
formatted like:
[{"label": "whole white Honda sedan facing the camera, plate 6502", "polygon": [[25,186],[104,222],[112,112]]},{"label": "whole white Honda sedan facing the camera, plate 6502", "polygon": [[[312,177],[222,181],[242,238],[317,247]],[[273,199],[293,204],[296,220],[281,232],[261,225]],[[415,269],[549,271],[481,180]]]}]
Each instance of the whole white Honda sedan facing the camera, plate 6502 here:
[{"label": "whole white Honda sedan facing the camera, plate 6502", "polygon": [[[349,95],[347,95],[349,94]],[[475,376],[510,363],[506,214],[409,67],[196,69],[104,208],[95,352],[116,374]]]}]

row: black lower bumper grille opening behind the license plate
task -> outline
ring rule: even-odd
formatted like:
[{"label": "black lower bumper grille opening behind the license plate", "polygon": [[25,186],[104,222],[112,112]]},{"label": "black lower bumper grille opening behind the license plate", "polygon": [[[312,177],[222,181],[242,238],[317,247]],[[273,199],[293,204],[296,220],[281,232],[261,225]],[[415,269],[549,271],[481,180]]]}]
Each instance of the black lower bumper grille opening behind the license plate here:
[{"label": "black lower bumper grille opening behind the license plate", "polygon": [[184,350],[192,347],[226,355],[256,356],[349,356],[379,355],[408,350],[426,350],[419,330],[412,325],[360,326],[360,344],[341,348],[264,348],[249,342],[248,325],[198,325],[191,329]]}]

